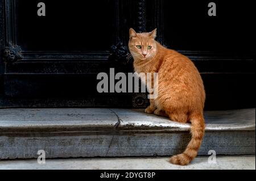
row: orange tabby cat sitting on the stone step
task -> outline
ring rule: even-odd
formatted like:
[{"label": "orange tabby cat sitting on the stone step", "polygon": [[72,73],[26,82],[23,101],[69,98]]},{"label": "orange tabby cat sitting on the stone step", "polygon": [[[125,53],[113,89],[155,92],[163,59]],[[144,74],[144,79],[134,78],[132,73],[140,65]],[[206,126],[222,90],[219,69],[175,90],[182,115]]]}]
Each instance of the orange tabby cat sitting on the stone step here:
[{"label": "orange tabby cat sitting on the stone step", "polygon": [[134,69],[137,73],[158,73],[158,98],[150,99],[147,113],[167,116],[179,123],[191,122],[191,141],[183,153],[170,159],[173,164],[188,165],[196,157],[204,136],[203,81],[188,57],[164,48],[155,37],[156,30],[136,33],[130,29],[129,49],[134,58]]}]

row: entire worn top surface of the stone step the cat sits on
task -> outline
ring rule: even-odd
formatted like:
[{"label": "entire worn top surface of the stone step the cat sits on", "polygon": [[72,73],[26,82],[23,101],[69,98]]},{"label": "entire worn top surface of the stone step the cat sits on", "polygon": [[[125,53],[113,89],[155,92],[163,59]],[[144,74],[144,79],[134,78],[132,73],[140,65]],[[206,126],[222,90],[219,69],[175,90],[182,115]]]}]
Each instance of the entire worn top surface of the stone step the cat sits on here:
[{"label": "entire worn top surface of the stone step the cat sits on", "polygon": [[[206,130],[255,130],[255,109],[206,111]],[[118,118],[120,120],[118,120]],[[121,121],[118,123],[118,121]],[[2,109],[0,129],[54,127],[115,127],[178,128],[189,130],[190,124],[180,124],[166,117],[148,115],[143,110],[124,109]]]}]

